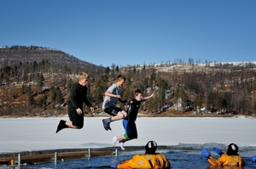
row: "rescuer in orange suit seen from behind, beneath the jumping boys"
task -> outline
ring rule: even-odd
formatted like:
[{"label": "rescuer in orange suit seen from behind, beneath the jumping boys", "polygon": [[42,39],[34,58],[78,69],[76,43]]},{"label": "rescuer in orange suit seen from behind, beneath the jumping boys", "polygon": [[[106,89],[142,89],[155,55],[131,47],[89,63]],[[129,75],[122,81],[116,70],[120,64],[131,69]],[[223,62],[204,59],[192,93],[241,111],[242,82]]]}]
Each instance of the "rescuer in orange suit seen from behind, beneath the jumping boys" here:
[{"label": "rescuer in orange suit seen from behind, beneath the jumping boys", "polygon": [[154,141],[149,141],[145,146],[145,155],[134,155],[130,160],[121,162],[119,165],[113,164],[112,167],[119,169],[130,168],[165,168],[171,167],[170,162],[166,159],[165,155],[155,153],[157,144]]}]

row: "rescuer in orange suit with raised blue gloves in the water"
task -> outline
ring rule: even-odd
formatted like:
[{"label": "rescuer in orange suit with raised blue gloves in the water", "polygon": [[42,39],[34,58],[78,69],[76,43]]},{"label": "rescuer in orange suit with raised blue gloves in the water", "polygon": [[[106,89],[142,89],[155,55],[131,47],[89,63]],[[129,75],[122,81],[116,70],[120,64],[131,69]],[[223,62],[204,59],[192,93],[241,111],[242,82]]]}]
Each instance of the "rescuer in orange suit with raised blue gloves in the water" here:
[{"label": "rescuer in orange suit with raised blue gloves in the water", "polygon": [[238,146],[236,144],[230,144],[227,149],[227,153],[224,154],[218,147],[213,147],[213,150],[220,155],[218,160],[212,157],[211,152],[207,149],[201,149],[201,155],[207,157],[208,162],[212,166],[244,166],[245,162],[242,160],[241,155],[237,154]]}]

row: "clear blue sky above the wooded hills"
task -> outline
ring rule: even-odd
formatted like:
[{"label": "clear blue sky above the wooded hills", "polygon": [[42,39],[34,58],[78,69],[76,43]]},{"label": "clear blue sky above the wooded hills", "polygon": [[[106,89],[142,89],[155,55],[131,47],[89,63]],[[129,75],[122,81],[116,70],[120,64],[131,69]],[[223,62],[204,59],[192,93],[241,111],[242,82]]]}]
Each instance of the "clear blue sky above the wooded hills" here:
[{"label": "clear blue sky above the wooded hills", "polygon": [[0,47],[96,65],[256,61],[255,0],[2,0]]}]

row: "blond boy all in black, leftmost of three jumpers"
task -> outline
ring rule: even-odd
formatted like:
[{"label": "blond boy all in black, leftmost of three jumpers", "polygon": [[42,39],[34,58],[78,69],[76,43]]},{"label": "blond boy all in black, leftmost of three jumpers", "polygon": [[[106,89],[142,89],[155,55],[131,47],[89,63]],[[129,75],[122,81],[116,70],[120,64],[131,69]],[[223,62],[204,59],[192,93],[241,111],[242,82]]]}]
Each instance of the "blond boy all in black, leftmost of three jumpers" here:
[{"label": "blond boy all in black, leftmost of three jumpers", "polygon": [[84,72],[79,73],[79,82],[75,83],[72,87],[70,100],[68,101],[67,111],[70,121],[61,120],[56,133],[60,132],[63,128],[76,128],[81,129],[84,127],[84,111],[83,102],[90,107],[90,111],[94,112],[94,108],[86,97],[88,82],[88,75]]}]

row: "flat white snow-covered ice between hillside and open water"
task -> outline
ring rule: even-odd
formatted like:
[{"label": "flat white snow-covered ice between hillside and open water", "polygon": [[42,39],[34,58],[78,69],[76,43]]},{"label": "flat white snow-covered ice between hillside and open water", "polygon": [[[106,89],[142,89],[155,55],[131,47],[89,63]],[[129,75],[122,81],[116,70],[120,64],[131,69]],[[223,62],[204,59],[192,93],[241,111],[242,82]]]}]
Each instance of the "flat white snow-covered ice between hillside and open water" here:
[{"label": "flat white snow-covered ice between hillside and open water", "polygon": [[[112,131],[105,131],[102,117],[84,118],[81,130],[68,128],[55,133],[61,119],[68,120],[68,117],[0,119],[0,153],[111,147],[113,136],[124,134],[121,121],[114,121]],[[136,124],[138,138],[126,142],[125,146],[145,145],[149,140],[159,145],[256,146],[256,118],[141,117]]]}]

